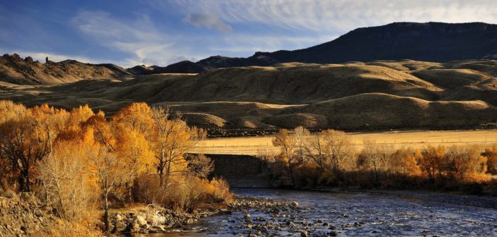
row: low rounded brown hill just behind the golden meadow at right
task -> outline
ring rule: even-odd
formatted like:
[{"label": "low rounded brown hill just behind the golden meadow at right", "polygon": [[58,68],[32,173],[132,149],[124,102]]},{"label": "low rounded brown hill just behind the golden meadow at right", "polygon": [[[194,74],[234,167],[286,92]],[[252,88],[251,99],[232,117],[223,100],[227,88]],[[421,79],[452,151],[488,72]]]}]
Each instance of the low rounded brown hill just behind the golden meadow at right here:
[{"label": "low rounded brown hill just behind the golden meadow at right", "polygon": [[486,102],[430,102],[413,97],[381,93],[353,95],[340,99],[289,108],[285,114],[325,116],[329,127],[351,128],[458,128],[495,121],[497,108]]}]

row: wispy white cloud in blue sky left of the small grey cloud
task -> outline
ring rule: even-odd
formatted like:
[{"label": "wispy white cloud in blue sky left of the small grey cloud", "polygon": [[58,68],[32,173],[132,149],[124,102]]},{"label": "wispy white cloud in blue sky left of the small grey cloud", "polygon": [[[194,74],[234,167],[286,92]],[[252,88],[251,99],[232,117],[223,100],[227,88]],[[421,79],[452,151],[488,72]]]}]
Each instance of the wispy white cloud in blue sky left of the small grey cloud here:
[{"label": "wispy white cloud in blue sky left of the small grey cloud", "polygon": [[124,20],[103,11],[82,11],[72,18],[72,23],[92,42],[130,54],[122,60],[125,66],[163,66],[176,63],[191,53],[176,44],[179,37],[165,35],[146,15]]}]

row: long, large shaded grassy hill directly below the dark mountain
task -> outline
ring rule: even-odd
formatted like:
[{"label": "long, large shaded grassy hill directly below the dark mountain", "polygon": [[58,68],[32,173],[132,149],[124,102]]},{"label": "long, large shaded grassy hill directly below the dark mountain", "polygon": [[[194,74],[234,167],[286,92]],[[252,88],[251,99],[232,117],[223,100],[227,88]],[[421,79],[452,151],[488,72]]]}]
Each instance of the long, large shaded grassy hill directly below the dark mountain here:
[{"label": "long, large shaded grassy hill directly below the dark mountain", "polygon": [[367,92],[434,99],[440,91],[409,73],[381,66],[285,63],[209,71],[165,88],[153,100],[300,104]]}]

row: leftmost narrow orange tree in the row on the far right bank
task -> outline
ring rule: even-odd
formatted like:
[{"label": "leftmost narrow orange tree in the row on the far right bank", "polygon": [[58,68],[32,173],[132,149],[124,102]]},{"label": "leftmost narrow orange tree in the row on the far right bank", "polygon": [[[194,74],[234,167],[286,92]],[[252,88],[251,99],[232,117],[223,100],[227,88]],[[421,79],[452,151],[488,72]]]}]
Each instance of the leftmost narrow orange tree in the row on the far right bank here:
[{"label": "leftmost narrow orange tree in the row on the far right bank", "polygon": [[295,136],[288,134],[288,130],[281,129],[280,132],[276,133],[275,138],[273,138],[273,145],[275,147],[281,147],[281,156],[287,164],[288,174],[292,179],[292,183],[295,183],[295,177],[293,174],[293,166],[295,165],[295,149],[297,148],[297,140]]}]

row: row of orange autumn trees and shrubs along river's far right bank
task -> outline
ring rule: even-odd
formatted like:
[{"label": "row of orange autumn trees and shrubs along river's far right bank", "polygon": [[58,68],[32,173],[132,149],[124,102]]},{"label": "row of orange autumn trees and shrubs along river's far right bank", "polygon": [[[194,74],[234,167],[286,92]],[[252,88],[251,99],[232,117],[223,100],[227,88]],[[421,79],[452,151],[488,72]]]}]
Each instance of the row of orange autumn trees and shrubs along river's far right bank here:
[{"label": "row of orange autumn trees and shrubs along river's far right bank", "polygon": [[[291,134],[290,134],[291,133]],[[299,127],[282,129],[273,139],[278,156],[260,154],[270,163],[276,186],[347,186],[423,188],[497,195],[497,147],[426,145],[395,150],[365,140],[362,150],[344,132],[311,135]]]}]

